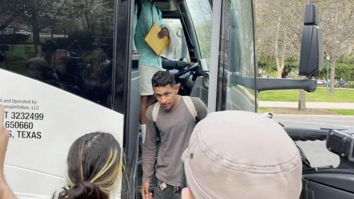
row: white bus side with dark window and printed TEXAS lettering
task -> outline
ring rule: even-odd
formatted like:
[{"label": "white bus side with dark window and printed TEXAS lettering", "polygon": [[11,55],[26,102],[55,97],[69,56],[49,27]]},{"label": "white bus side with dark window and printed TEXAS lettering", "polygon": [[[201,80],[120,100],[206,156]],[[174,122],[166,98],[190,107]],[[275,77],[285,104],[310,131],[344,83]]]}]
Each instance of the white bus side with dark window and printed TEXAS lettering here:
[{"label": "white bus side with dark window and printed TEXAS lettering", "polygon": [[[89,4],[48,1],[21,13],[17,1],[1,4],[2,19],[22,16],[8,28],[30,24],[31,32],[0,38],[6,54],[0,63],[0,105],[10,131],[4,172],[18,198],[58,193],[66,185],[70,145],[95,131],[115,136],[132,169],[128,173],[135,176],[139,109],[133,107],[139,104],[140,74],[131,67],[139,60],[131,55],[133,1]],[[48,16],[56,18],[44,20]],[[50,33],[41,31],[48,26]]]}]

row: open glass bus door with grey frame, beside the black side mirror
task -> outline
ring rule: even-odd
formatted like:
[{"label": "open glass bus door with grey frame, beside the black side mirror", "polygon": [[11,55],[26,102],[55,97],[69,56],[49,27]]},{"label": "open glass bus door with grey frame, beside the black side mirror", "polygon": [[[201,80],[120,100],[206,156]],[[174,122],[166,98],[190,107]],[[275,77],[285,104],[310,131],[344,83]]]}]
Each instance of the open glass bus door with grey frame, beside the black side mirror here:
[{"label": "open glass bus door with grey frame, beside the black side mirror", "polygon": [[254,1],[213,1],[208,112],[257,112]]}]

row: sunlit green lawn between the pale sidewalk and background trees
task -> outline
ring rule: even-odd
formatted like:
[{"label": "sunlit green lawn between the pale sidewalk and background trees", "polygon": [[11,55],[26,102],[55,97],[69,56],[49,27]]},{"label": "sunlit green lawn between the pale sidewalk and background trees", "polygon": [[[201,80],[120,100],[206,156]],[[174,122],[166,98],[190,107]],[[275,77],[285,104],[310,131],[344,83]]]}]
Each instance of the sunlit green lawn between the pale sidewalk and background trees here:
[{"label": "sunlit green lawn between the pale sidewalk and background trees", "polygon": [[[261,91],[258,95],[259,101],[297,102],[299,98],[299,90]],[[354,89],[335,89],[334,94],[330,94],[327,89],[317,89],[313,93],[306,93],[306,102],[354,103]]]}]

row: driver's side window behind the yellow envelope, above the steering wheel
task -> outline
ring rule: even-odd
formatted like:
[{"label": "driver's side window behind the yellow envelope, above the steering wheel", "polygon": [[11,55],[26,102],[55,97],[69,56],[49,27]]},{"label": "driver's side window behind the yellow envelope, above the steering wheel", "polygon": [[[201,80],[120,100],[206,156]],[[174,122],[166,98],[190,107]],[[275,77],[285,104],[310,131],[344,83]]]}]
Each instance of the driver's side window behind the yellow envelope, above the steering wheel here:
[{"label": "driver's side window behind the yellow envelope, above the steering wheel", "polygon": [[170,52],[169,55],[166,55],[166,51],[162,55],[163,57],[179,60],[179,59],[186,59],[186,61],[190,61],[187,42],[185,40],[185,35],[183,33],[181,19],[172,19],[172,18],[163,18],[162,24],[168,25],[172,32],[171,34],[175,34],[175,36],[179,39],[178,45],[174,47],[173,52]]}]

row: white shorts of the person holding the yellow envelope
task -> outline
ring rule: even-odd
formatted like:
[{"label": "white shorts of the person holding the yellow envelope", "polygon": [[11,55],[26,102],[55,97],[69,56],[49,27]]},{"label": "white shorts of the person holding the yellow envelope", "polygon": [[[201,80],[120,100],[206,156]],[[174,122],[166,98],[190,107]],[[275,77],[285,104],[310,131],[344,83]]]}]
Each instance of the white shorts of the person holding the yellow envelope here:
[{"label": "white shorts of the person holding the yellow envelope", "polygon": [[154,95],[151,79],[153,78],[153,75],[159,70],[165,71],[165,69],[159,67],[147,66],[145,64],[140,65],[141,96]]}]

